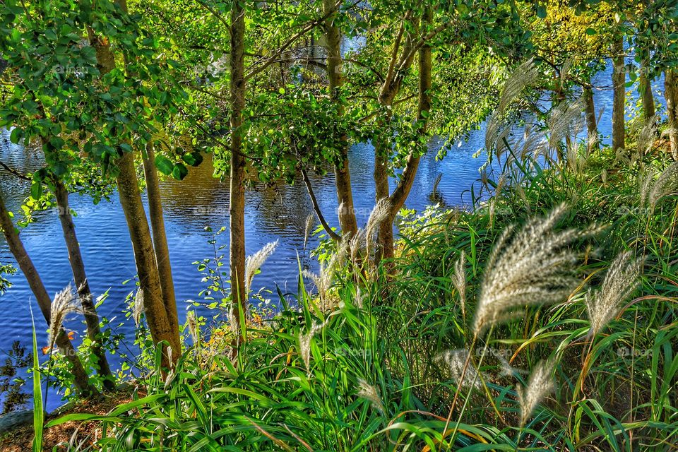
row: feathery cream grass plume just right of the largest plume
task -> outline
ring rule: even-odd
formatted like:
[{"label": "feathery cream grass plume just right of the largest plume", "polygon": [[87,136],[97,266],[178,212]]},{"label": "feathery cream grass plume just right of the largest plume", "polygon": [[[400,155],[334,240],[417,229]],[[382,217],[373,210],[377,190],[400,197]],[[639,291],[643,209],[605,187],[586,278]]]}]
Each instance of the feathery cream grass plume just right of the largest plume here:
[{"label": "feathery cream grass plume just right of the largest plume", "polygon": [[600,333],[605,325],[619,314],[626,302],[640,285],[643,259],[635,258],[631,251],[620,253],[609,265],[600,289],[586,294],[586,311],[591,323],[589,336]]}]

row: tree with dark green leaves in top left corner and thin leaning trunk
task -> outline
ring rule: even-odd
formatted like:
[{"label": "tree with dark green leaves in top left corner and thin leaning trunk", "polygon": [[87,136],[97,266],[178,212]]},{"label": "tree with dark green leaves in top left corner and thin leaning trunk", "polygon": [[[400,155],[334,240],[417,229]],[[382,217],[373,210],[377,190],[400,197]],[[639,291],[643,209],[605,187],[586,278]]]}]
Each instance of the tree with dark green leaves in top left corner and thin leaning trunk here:
[{"label": "tree with dark green leaves in top left corner and thin leaning trunk", "polygon": [[[75,13],[66,10],[68,12],[62,14],[63,11],[59,11],[60,8],[69,8],[69,6],[56,3],[54,10],[42,12],[35,6],[32,6],[29,11],[28,8],[18,6],[14,2],[4,4],[1,10],[4,30],[0,49],[9,65],[3,76],[13,86],[13,91],[4,99],[0,118],[3,125],[15,126],[11,135],[14,143],[23,139],[25,144],[30,141],[38,141],[42,144],[47,166],[33,174],[32,197],[40,198],[44,182],[47,182],[54,192],[73,279],[82,304],[88,338],[92,343],[95,365],[98,367],[99,374],[104,378],[105,387],[111,389],[114,382],[101,345],[99,316],[88,285],[81,249],[69,208],[69,191],[64,182],[69,162],[78,160],[78,156],[68,149],[66,140],[61,138],[61,135],[67,136],[73,131],[73,127],[69,129],[69,126],[74,124],[69,117],[69,113],[72,112],[65,108],[69,102],[73,102],[73,98],[69,95],[71,84],[64,79],[69,76],[75,78],[75,76],[73,73],[65,73],[65,69],[70,67],[66,63],[73,61],[76,66],[80,62],[85,64],[91,61],[93,54],[90,52],[91,49],[78,47],[79,36],[72,27],[76,20]],[[42,14],[36,14],[40,12]],[[39,16],[42,21],[37,22],[32,14]],[[55,27],[59,34],[47,27],[47,24],[53,25],[53,21],[59,25]],[[8,23],[11,23],[11,32],[7,30]],[[48,31],[36,40],[36,30],[42,32],[43,29]],[[66,57],[69,50],[73,51],[71,61]],[[61,70],[56,71],[57,67]],[[65,128],[59,124],[59,119],[62,118],[66,118]],[[37,297],[39,296],[36,294]]]}]

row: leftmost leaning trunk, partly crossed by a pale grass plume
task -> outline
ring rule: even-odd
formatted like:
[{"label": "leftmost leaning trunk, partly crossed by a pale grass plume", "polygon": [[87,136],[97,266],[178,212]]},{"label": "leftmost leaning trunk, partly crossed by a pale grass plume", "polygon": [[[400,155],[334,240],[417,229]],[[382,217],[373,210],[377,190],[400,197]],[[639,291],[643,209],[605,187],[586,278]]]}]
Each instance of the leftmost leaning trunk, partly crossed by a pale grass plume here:
[{"label": "leftmost leaning trunk, partly crossed by a pale grass plume", "polygon": [[[30,260],[26,249],[23,246],[23,242],[19,237],[19,233],[14,228],[13,222],[9,216],[9,212],[5,207],[4,199],[0,196],[0,227],[2,227],[2,232],[7,241],[7,246],[12,252],[14,258],[19,265],[23,275],[28,281],[28,286],[35,296],[40,311],[42,311],[42,316],[44,320],[47,321],[49,325],[50,316],[51,316],[51,307],[52,299],[47,295],[47,290],[42,284],[42,279],[40,274],[37,273],[37,269],[33,265],[33,262]],[[61,351],[61,354],[66,357],[66,360],[71,364],[71,372],[73,372],[73,379],[78,391],[83,393],[85,396],[94,395],[97,393],[97,390],[94,386],[90,385],[89,377],[87,372],[83,367],[83,364],[78,358],[78,353],[76,349],[71,344],[68,335],[64,332],[64,329],[61,328],[61,331],[57,334],[56,339],[57,347]]]}]

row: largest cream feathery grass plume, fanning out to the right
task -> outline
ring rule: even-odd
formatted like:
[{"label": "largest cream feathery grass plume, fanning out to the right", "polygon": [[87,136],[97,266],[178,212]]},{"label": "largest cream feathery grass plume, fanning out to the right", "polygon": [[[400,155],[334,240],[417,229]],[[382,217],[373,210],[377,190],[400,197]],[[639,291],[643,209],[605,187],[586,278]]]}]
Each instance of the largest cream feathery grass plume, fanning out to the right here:
[{"label": "largest cream feathery grass plume, fanning out to the right", "polygon": [[510,319],[518,307],[559,302],[578,285],[576,254],[569,247],[598,229],[555,231],[565,213],[565,206],[558,206],[514,234],[506,228],[496,240],[480,287],[475,334]]}]

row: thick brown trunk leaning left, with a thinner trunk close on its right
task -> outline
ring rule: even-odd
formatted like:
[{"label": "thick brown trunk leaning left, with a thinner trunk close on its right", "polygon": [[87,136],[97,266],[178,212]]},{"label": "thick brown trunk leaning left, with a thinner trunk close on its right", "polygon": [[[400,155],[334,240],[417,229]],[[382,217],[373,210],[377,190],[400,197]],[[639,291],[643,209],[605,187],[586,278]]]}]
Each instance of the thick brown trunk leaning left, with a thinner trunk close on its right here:
[{"label": "thick brown trunk leaning left, with a thinner trunk close on its right", "polygon": [[[172,316],[169,314],[171,307],[167,307],[162,298],[160,275],[155,262],[148,220],[141,203],[141,192],[136,178],[133,154],[124,153],[117,160],[117,167],[119,169],[117,176],[118,194],[134,250],[139,285],[143,292],[146,321],[153,342],[157,345],[161,341],[167,341],[169,346],[172,347],[171,353],[165,347],[162,350],[162,367],[171,369],[182,353],[179,328],[172,324]],[[176,306],[174,306],[174,309],[176,309]]]}]

